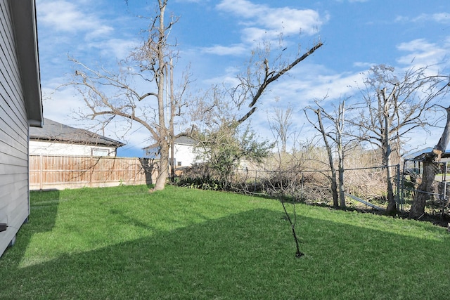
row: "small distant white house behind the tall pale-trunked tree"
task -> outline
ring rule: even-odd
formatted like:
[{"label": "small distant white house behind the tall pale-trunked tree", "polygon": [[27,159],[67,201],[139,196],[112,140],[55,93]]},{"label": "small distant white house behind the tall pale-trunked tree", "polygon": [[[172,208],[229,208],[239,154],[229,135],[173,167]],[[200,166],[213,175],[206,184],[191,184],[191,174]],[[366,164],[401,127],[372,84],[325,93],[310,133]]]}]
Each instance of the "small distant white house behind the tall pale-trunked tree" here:
[{"label": "small distant white house behind the tall pale-trunked tree", "polygon": [[[175,167],[188,167],[197,162],[195,146],[198,142],[188,136],[180,136],[174,141],[174,161]],[[153,159],[160,158],[160,148],[157,144],[149,145],[143,148],[144,156]],[[169,152],[169,159],[172,159],[172,153]]]}]

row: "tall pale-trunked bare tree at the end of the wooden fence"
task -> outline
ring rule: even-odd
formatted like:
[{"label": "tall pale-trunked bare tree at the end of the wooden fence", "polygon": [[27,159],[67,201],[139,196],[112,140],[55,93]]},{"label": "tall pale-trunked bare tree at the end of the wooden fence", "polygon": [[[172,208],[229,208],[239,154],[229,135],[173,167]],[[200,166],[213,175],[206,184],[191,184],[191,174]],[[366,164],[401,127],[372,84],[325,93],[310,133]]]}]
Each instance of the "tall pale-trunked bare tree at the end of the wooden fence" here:
[{"label": "tall pale-trunked bare tree at the end of the wooden fence", "polygon": [[72,59],[78,70],[75,81],[70,83],[77,87],[91,111],[84,117],[98,120],[102,127],[114,117],[122,117],[129,122],[130,128],[137,122],[149,131],[160,150],[158,178],[153,190],[165,187],[169,150],[176,138],[174,119],[186,105],[181,101],[181,94],[188,84],[186,80],[178,97],[174,96],[173,90],[170,97],[165,97],[165,82],[169,72],[173,72],[172,59],[176,56],[176,45],[170,44],[168,36],[177,22],[174,17],[168,22],[165,20],[167,1],[158,0],[157,13],[149,19],[146,39],[131,52],[129,60],[123,62],[125,65],[120,65],[118,74],[103,68],[94,70]]}]

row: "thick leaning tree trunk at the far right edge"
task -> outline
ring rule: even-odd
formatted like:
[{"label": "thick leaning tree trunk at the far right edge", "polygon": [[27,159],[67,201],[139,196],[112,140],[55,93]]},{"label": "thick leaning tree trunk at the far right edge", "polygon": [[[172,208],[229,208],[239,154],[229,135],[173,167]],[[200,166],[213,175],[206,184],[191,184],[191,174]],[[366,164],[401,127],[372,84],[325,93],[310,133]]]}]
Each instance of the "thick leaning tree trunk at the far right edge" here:
[{"label": "thick leaning tree trunk at the far right edge", "polygon": [[[442,107],[439,105],[439,107]],[[446,124],[442,132],[439,142],[435,148],[423,156],[423,175],[422,182],[417,188],[417,193],[414,195],[413,204],[409,211],[409,216],[413,219],[418,219],[425,213],[425,202],[430,197],[432,190],[432,183],[435,181],[436,174],[439,172],[438,162],[441,155],[445,152],[450,141],[450,106],[442,107],[446,110]]]}]

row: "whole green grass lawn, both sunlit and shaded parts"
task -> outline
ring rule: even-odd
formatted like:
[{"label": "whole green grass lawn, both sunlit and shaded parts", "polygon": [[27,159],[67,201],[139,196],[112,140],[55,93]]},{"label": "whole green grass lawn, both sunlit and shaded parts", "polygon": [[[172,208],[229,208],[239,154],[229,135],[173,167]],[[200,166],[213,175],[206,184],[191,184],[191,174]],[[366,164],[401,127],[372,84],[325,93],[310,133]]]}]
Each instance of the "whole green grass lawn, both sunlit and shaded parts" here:
[{"label": "whole green grass lawn, both sunlit and shaded parts", "polygon": [[31,193],[0,299],[446,299],[450,236],[417,221],[146,186]]}]

